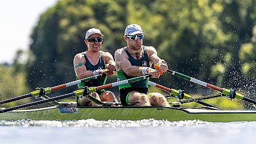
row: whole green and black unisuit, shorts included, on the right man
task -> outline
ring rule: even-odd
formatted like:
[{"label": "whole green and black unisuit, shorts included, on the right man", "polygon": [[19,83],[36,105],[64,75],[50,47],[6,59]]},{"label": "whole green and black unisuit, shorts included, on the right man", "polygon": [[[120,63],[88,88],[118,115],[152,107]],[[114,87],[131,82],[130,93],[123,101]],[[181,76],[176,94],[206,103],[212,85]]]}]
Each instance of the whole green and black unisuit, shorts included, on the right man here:
[{"label": "whole green and black unisuit, shorts included, on the right man", "polygon": [[[130,61],[132,66],[139,66],[139,67],[150,67],[149,65],[149,57],[146,52],[146,47],[143,45],[142,49],[142,57],[139,60],[134,59],[131,54],[127,51],[126,47],[122,48],[125,50],[126,54],[128,55],[128,60]],[[122,69],[117,72],[117,81],[123,81],[133,78],[132,76],[128,76]],[[148,93],[148,78],[141,81],[126,83],[124,85],[120,85],[119,92],[120,92],[120,100],[123,106],[129,105],[129,101],[127,100],[127,96],[132,91],[138,91],[144,94]]]}]

